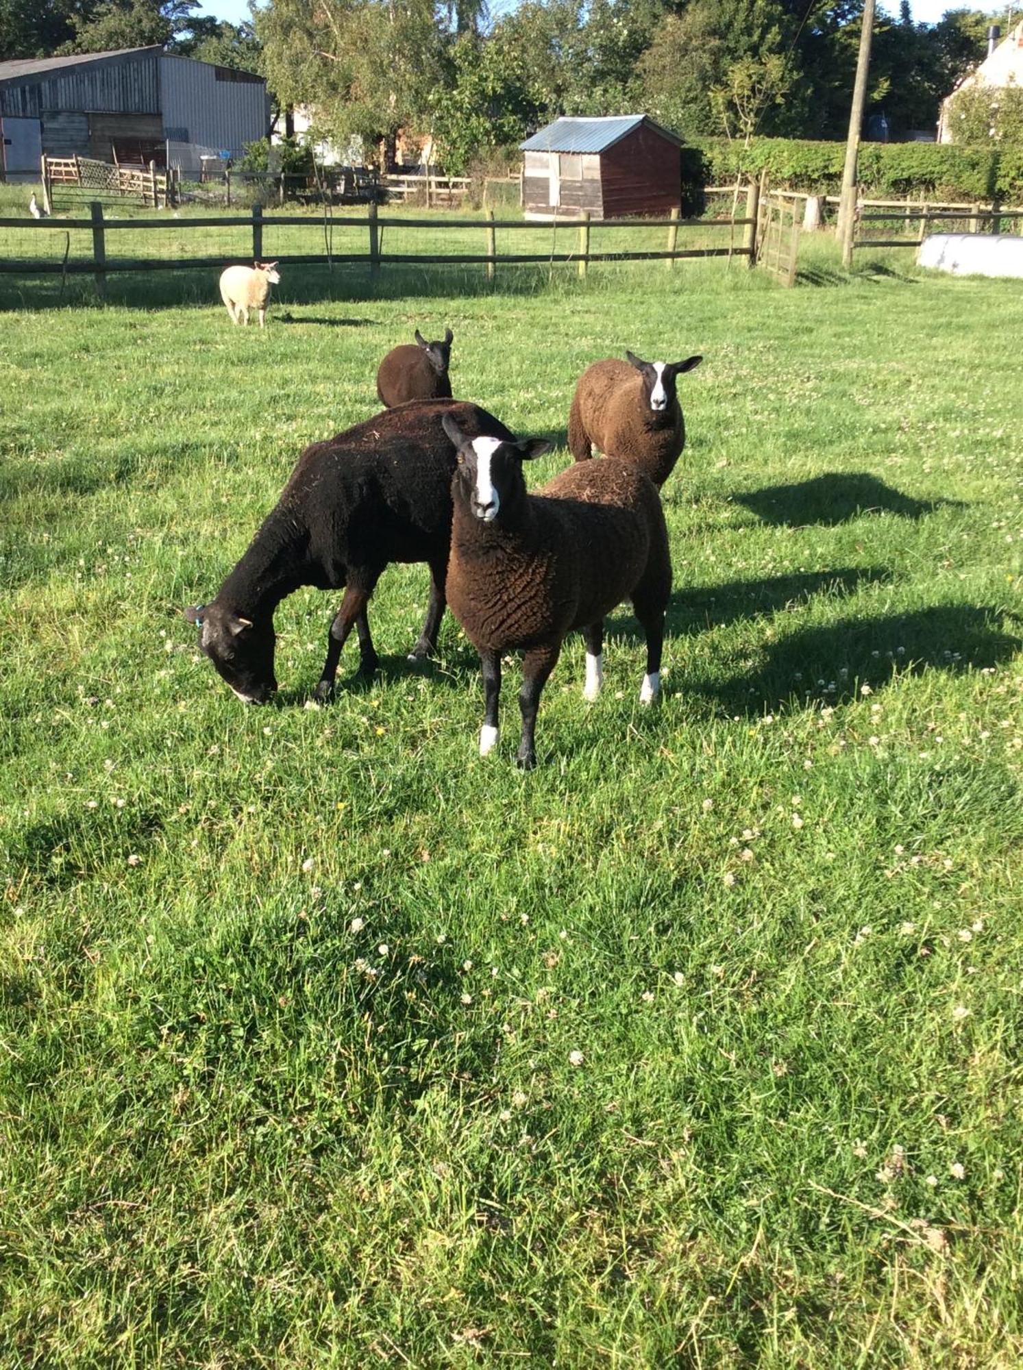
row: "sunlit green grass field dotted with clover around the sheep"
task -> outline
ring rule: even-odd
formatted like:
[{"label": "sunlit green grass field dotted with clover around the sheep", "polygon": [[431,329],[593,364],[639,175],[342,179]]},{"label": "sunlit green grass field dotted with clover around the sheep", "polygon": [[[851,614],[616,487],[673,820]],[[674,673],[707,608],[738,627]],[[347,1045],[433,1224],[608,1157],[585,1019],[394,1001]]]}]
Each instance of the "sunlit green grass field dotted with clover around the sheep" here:
[{"label": "sunlit green grass field dotted with clover around the sheep", "polygon": [[[0,1360],[1015,1366],[1023,300],[480,275],[3,315]],[[618,611],[527,775],[424,567],[321,710],[335,599],[262,710],[180,616],[444,323],[531,481],[588,362],[705,355],[665,699]]]}]

